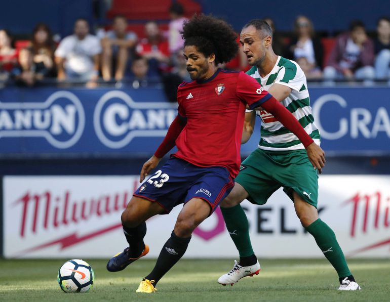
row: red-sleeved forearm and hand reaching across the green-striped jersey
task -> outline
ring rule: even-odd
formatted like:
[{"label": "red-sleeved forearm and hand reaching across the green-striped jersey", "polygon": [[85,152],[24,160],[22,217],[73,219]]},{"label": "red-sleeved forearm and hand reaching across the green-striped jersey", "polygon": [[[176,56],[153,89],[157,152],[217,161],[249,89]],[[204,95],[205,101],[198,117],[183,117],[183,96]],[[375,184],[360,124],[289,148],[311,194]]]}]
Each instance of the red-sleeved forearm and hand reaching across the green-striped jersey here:
[{"label": "red-sleeved forearm and hand reaching across the green-striped jersey", "polygon": [[[307,157],[315,169],[318,169],[320,174],[325,166],[325,152],[317,146],[313,139],[304,131],[298,120],[274,97],[270,97],[267,101],[261,104],[261,107],[271,113],[278,119],[288,130],[295,134],[306,148]],[[254,109],[254,108],[251,108]]]}]

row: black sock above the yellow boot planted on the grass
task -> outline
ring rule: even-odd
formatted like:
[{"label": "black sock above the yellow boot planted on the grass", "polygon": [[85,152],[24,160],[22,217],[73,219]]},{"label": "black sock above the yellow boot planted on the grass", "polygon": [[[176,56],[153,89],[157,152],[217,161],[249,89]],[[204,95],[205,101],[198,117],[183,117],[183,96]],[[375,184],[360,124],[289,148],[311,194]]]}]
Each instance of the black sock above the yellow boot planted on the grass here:
[{"label": "black sock above the yellow boot planted on the grass", "polygon": [[157,284],[159,280],[180,260],[184,255],[188,243],[191,237],[180,238],[175,235],[174,232],[171,234],[171,238],[164,244],[163,249],[160,252],[157,263],[154,269],[149,275],[145,277],[148,280],[154,280],[154,284]]}]

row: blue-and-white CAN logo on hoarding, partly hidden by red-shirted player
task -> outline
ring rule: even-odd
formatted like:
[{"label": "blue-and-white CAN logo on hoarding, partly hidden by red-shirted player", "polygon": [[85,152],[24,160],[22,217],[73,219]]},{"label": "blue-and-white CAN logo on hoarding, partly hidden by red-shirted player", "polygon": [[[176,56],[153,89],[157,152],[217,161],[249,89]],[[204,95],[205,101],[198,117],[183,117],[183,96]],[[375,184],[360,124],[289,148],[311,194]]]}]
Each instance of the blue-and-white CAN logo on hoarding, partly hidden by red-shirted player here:
[{"label": "blue-and-white CAN logo on hoarding, partly hidden by red-shirted player", "polygon": [[105,93],[97,102],[93,123],[98,139],[120,149],[134,138],[164,137],[177,109],[166,102],[134,102],[123,91]]}]

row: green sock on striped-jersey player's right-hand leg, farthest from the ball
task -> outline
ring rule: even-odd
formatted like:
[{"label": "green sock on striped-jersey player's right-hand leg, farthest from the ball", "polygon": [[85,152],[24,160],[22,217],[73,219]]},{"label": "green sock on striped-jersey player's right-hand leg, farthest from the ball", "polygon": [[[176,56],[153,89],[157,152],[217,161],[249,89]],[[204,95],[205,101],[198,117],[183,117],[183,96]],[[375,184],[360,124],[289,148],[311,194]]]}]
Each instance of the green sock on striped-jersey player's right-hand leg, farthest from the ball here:
[{"label": "green sock on striped-jersey player's right-hand leg, farthest from the ball", "polygon": [[321,219],[317,219],[306,230],[316,239],[318,247],[334,267],[339,278],[352,275],[346,264],[344,253],[338,245],[336,235],[326,223]]}]

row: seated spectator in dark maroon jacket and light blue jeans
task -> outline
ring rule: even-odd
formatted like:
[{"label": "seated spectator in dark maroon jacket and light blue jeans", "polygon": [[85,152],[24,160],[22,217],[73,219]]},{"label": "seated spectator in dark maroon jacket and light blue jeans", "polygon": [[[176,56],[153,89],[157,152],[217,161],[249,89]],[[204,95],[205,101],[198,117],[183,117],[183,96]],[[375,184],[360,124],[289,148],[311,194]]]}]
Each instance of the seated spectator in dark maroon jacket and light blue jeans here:
[{"label": "seated spectator in dark maroon jacket and light blue jeans", "polygon": [[342,33],[329,56],[324,78],[363,79],[370,81],[375,77],[374,45],[367,36],[364,23],[360,20],[349,25],[349,32]]}]

